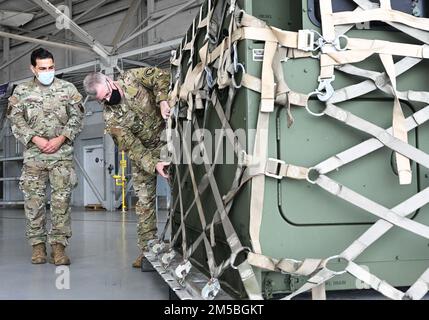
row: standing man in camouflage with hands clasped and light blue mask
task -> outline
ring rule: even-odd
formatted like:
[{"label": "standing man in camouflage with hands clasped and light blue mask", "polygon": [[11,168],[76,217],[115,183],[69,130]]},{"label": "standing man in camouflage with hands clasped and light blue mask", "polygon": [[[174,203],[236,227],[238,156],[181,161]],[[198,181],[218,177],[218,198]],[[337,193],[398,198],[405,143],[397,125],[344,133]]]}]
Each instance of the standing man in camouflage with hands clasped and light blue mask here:
[{"label": "standing man in camouflage with hands clasped and light blue mask", "polygon": [[[42,51],[37,66],[47,61],[53,64],[52,56],[45,56]],[[53,78],[53,74],[52,79],[51,84],[43,85],[36,74],[33,80],[18,85],[9,98],[8,119],[13,134],[25,146],[20,189],[25,199],[26,235],[33,246],[32,263],[46,263],[45,243],[48,240],[52,246],[50,262],[60,265],[70,263],[64,248],[72,235],[70,200],[72,189],[77,185],[73,141],[82,129],[83,107],[82,96],[73,84]],[[47,235],[45,191],[48,181],[52,223]]]}]

